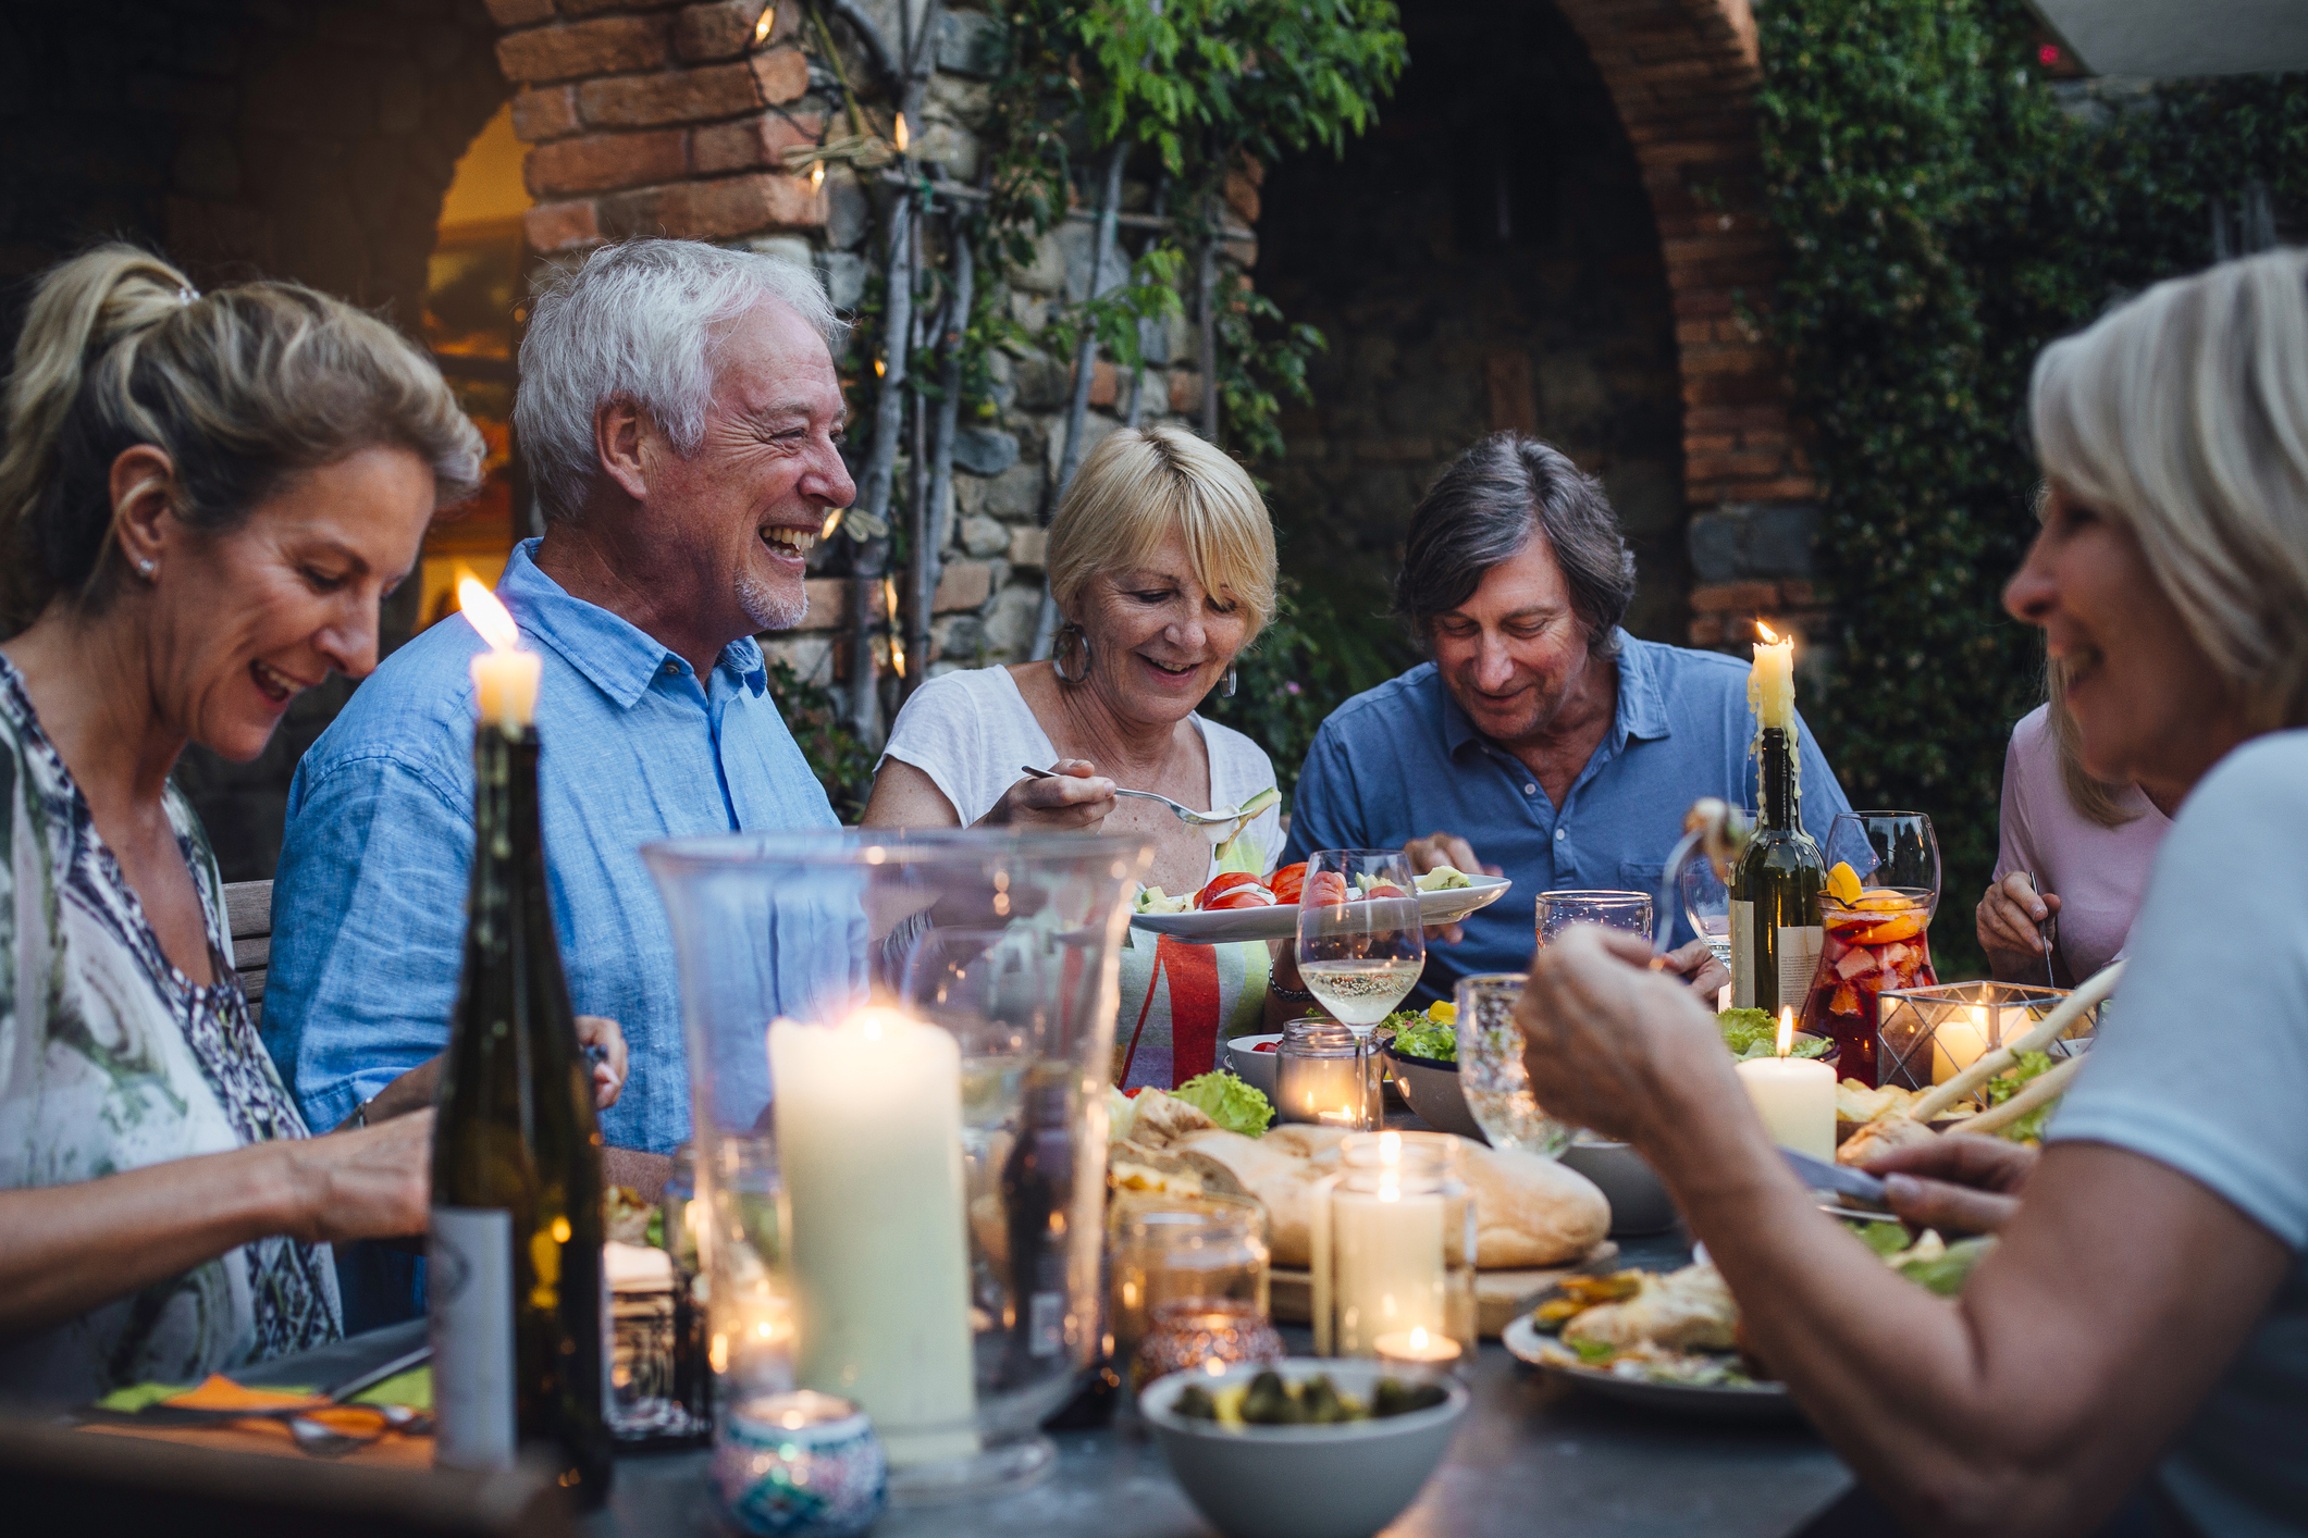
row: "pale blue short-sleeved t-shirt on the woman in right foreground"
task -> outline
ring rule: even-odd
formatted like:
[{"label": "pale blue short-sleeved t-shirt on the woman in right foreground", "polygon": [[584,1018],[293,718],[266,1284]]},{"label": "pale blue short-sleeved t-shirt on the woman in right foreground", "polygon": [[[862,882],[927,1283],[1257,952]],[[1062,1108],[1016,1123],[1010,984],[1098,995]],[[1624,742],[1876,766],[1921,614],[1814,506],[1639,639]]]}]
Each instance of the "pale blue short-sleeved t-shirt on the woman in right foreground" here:
[{"label": "pale blue short-sleeved t-shirt on the woman in right foreground", "polygon": [[2308,731],[2246,742],[2188,796],[2047,1137],[2167,1164],[2290,1245],[2160,1478],[2204,1533],[2308,1533]]}]

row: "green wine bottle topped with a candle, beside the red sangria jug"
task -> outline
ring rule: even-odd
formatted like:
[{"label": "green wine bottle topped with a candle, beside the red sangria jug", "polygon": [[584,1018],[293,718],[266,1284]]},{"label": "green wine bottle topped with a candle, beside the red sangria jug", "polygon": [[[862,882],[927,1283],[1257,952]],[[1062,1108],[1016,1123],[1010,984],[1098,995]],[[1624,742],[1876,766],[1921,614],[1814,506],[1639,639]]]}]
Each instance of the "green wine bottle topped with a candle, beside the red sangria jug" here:
[{"label": "green wine bottle topped with a candle, beside the red sangria jug", "polygon": [[1828,867],[1798,816],[1793,733],[1766,726],[1761,759],[1763,814],[1731,872],[1731,1005],[1777,1015],[1803,1008],[1819,968]]}]

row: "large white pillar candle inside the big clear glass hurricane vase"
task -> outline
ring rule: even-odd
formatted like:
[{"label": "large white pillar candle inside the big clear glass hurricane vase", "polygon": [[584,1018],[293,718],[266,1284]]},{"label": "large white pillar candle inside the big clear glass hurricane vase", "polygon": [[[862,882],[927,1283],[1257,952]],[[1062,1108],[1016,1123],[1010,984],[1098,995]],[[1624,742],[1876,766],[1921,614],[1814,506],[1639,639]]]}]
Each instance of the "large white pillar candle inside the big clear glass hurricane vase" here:
[{"label": "large white pillar candle inside the big clear glass hurricane vase", "polygon": [[863,1404],[891,1464],[974,1455],[960,1045],[870,1008],[775,1021],[769,1065],[796,1379]]}]

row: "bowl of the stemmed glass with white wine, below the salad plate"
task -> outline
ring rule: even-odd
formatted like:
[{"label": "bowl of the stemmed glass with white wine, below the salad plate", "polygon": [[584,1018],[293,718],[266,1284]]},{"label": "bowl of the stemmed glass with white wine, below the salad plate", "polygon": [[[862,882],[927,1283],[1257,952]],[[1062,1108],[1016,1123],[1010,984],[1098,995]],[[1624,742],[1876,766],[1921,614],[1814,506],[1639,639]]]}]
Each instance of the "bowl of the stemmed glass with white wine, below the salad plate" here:
[{"label": "bowl of the stemmed glass with white wine, below the salad plate", "polygon": [[1297,957],[1306,992],[1357,1035],[1392,1015],[1426,971],[1426,925],[1403,851],[1306,855]]}]

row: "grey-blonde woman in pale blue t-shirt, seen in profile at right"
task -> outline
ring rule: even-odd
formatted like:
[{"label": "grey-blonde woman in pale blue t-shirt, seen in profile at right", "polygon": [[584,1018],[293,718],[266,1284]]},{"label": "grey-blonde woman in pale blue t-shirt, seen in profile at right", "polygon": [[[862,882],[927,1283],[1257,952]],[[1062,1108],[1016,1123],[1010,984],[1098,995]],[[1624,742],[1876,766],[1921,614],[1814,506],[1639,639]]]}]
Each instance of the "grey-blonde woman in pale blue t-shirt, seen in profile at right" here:
[{"label": "grey-blonde woman in pale blue t-shirt, seen in profile at right", "polygon": [[1869,1162],[1902,1215],[1999,1229],[1959,1298],[1819,1211],[1648,948],[1572,929],[1533,962],[1530,1088],[1643,1151],[1743,1342],[1906,1531],[2084,1533],[2153,1471],[2153,1531],[2308,1533],[2303,360],[2308,254],[2271,251],[2036,362],[2052,498],[2003,604],[2068,664],[2084,768],[2181,807],[2043,1153]]}]

